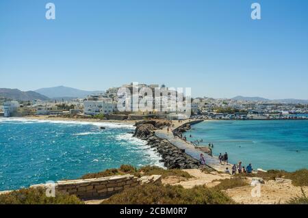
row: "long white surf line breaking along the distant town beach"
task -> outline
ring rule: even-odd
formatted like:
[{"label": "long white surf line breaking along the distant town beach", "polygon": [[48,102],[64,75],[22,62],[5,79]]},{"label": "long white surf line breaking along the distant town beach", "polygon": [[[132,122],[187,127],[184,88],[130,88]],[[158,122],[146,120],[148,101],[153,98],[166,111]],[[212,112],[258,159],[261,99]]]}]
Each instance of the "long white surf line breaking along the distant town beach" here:
[{"label": "long white surf line breaking along the distant town beach", "polygon": [[93,125],[103,126],[105,128],[129,128],[135,129],[133,124],[123,124],[117,122],[87,122],[87,121],[75,121],[75,120],[36,120],[25,118],[0,118],[0,122],[22,122],[23,124],[31,123],[53,123],[53,124],[73,124],[73,125]]}]

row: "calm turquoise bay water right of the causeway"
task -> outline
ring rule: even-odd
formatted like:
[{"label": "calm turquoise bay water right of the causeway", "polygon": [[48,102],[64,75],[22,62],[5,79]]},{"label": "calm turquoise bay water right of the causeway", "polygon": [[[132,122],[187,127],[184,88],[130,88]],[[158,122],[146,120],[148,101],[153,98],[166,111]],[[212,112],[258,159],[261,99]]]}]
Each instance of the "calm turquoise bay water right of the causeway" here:
[{"label": "calm turquoise bay water right of the causeway", "polygon": [[[190,138],[190,134],[192,138]],[[308,120],[216,120],[193,125],[190,141],[214,144],[214,155],[228,152],[229,161],[255,169],[308,168]]]}]

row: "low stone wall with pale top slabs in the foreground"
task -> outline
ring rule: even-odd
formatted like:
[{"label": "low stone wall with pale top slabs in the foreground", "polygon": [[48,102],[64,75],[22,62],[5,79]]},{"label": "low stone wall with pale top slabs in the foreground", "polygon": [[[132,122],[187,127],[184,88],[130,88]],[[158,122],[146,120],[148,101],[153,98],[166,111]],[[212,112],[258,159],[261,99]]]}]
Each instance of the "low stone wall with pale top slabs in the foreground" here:
[{"label": "low stone wall with pale top slabs in the foreground", "polygon": [[32,185],[33,188],[55,187],[55,191],[76,195],[81,199],[96,199],[109,197],[130,187],[143,185],[146,183],[156,182],[161,176],[143,176],[138,178],[133,175],[109,176],[102,178],[90,178],[84,180],[63,180],[58,181],[53,185],[39,184]]}]

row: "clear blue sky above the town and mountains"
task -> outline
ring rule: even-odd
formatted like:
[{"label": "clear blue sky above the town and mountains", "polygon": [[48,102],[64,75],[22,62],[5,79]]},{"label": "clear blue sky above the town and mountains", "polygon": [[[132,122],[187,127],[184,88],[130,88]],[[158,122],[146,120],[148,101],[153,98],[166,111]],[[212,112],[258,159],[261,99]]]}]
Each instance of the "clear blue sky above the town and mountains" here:
[{"label": "clear blue sky above the town and mountains", "polygon": [[1,0],[0,87],[136,81],[193,96],[308,99],[307,11],[307,0]]}]

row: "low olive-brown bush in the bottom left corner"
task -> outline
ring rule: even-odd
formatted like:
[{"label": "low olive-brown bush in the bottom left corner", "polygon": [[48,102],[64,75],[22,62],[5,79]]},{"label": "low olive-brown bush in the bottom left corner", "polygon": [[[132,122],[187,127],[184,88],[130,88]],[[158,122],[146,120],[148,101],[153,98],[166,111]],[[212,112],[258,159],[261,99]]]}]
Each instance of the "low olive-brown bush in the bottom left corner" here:
[{"label": "low olive-brown bush in the bottom left corner", "polygon": [[45,189],[21,189],[0,195],[0,204],[84,204],[75,195],[56,193],[47,197]]}]

